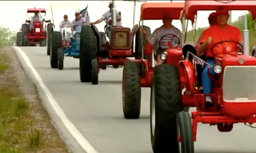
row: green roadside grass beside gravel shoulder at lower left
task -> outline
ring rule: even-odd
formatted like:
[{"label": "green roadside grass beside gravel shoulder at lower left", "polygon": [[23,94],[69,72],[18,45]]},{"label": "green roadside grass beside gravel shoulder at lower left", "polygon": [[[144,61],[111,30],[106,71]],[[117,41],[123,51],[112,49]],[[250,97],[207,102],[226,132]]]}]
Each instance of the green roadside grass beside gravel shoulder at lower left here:
[{"label": "green roadside grass beside gravel shoulder at lower left", "polygon": [[[0,75],[9,67],[6,63],[8,57],[0,54]],[[26,99],[0,83],[0,153],[37,152],[44,131],[36,129],[32,119]]]}]

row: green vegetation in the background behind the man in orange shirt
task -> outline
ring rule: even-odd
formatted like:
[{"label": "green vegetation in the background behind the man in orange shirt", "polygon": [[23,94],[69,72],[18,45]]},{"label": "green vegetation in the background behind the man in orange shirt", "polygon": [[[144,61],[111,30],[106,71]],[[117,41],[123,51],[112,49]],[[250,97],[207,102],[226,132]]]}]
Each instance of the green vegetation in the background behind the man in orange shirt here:
[{"label": "green vegetation in the background behind the man in orange shirt", "polygon": [[[254,23],[255,21],[252,20],[252,14],[248,13],[247,15],[247,26],[249,29],[249,33],[250,33],[250,51],[252,50],[253,46],[256,45],[256,33],[255,33],[255,29],[254,29]],[[208,19],[205,19],[205,22],[208,22]],[[244,29],[244,22],[243,21],[238,21],[238,19],[234,22],[232,22],[230,25],[237,27],[238,29],[240,29],[241,33],[242,30]],[[203,27],[203,28],[197,28],[196,29],[196,37],[195,40],[197,41],[199,36],[202,34],[202,32],[208,27]],[[187,33],[187,40],[186,42],[194,42],[193,40],[194,36],[193,36],[193,32],[192,30],[188,31]]]}]

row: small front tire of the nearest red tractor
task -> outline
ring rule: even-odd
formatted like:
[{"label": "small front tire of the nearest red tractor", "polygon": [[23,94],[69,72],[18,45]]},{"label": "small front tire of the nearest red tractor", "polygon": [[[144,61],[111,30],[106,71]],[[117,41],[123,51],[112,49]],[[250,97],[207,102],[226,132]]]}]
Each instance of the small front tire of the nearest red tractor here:
[{"label": "small front tire of the nearest red tractor", "polygon": [[194,141],[191,117],[187,111],[181,111],[177,115],[177,136],[180,136],[181,142],[178,143],[180,153],[194,153]]}]

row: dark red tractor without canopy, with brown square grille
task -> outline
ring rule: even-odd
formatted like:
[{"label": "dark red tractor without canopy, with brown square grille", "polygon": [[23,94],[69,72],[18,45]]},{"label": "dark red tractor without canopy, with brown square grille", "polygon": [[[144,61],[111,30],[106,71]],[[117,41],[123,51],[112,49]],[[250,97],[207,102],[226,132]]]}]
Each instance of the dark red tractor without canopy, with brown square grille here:
[{"label": "dark red tractor without canopy, with brown square grille", "polygon": [[[113,6],[115,6],[114,3]],[[116,14],[112,14],[112,16],[116,16]],[[124,62],[131,60],[127,57],[134,57],[135,54],[139,54],[131,49],[131,29],[116,26],[115,23],[116,20],[112,20],[111,43],[106,41],[106,34],[99,32],[94,25],[82,27],[79,57],[81,82],[98,84],[98,73],[102,65],[111,65],[113,68],[122,67]],[[141,62],[140,59],[132,61]]]}]

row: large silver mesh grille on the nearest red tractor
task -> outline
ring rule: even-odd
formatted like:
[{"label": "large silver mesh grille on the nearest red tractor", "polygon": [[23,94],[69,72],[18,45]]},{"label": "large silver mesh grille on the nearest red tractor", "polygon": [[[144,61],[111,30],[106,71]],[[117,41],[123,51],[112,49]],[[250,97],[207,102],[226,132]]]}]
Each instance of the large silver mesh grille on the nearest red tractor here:
[{"label": "large silver mesh grille on the nearest red tractor", "polygon": [[256,102],[256,66],[226,66],[222,89],[225,102]]}]

